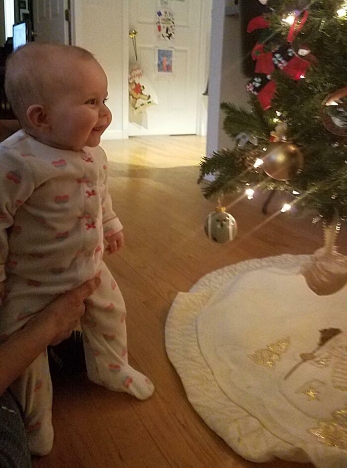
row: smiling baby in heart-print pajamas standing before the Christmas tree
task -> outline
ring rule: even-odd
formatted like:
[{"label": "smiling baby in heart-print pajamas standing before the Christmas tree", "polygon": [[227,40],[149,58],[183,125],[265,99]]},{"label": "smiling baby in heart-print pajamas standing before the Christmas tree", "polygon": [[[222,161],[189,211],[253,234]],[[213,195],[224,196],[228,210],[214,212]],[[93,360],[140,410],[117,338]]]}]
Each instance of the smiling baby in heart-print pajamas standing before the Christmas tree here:
[{"label": "smiling baby in heart-print pajamas standing before the Christmas tree", "polygon": [[[74,46],[29,43],[6,64],[5,91],[23,130],[0,145],[1,339],[85,280],[101,285],[82,318],[88,377],[140,400],[153,384],[127,361],[125,307],[102,261],[123,245],[99,146],[110,125],[107,77]],[[52,384],[42,354],[11,391],[23,408],[32,454],[53,445]]]}]

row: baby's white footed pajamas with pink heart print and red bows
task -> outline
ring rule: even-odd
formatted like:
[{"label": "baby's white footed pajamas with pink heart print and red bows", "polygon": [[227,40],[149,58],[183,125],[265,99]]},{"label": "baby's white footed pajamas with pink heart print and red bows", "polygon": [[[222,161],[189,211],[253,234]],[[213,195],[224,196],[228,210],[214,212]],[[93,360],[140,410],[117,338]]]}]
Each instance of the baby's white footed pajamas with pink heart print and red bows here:
[{"label": "baby's white footed pajamas with pink heart print and red bows", "polygon": [[[57,294],[99,275],[86,300],[81,325],[88,377],[140,400],[153,384],[127,361],[125,306],[102,261],[104,237],[121,224],[107,190],[107,159],[101,147],[61,150],[24,131],[0,145],[0,339],[20,329]],[[53,444],[52,384],[47,353],[11,386],[22,406],[32,454]]]}]

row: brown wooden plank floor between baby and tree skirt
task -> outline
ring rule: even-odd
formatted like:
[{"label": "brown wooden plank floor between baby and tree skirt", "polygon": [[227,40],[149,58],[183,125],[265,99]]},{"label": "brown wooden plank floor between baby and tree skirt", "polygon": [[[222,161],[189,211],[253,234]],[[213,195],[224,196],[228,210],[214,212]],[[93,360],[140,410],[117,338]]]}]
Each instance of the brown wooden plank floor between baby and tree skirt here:
[{"label": "brown wooden plank floor between baby and tree skirt", "polygon": [[[103,143],[110,160],[110,192],[126,246],[106,259],[128,309],[131,364],[156,386],[148,401],[114,394],[87,379],[56,385],[51,455],[35,468],[299,468],[274,461],[258,465],[232,452],[199,418],[165,352],[164,326],[177,291],[202,275],[245,259],[311,253],[322,243],[311,219],[261,213],[263,197],[229,211],[238,239],[211,243],[203,231],[214,203],[196,184],[205,140],[197,136],[141,137]],[[344,229],[340,236],[343,243]],[[346,245],[346,242],[344,242]]]}]

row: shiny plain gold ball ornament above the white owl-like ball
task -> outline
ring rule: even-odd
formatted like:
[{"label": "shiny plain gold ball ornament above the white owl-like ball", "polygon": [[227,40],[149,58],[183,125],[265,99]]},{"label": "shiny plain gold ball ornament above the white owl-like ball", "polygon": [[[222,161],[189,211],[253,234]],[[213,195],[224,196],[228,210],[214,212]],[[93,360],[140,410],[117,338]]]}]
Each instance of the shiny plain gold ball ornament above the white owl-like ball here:
[{"label": "shiny plain gold ball ornament above the white owl-like ball", "polygon": [[303,167],[303,154],[293,143],[271,143],[263,153],[262,169],[276,180],[289,180],[299,174]]}]

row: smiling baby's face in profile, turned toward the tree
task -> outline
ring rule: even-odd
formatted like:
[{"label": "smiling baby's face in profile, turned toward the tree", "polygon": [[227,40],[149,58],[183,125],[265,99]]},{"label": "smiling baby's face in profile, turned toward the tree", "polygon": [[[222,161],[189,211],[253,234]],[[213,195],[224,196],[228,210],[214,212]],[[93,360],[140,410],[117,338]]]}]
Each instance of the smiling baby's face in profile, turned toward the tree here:
[{"label": "smiling baby's face in profile, turned toward the tree", "polygon": [[71,64],[66,86],[56,91],[49,107],[50,131],[46,143],[61,149],[79,151],[97,146],[111,123],[105,105],[107,77],[94,60]]}]

